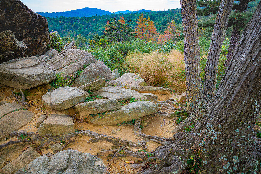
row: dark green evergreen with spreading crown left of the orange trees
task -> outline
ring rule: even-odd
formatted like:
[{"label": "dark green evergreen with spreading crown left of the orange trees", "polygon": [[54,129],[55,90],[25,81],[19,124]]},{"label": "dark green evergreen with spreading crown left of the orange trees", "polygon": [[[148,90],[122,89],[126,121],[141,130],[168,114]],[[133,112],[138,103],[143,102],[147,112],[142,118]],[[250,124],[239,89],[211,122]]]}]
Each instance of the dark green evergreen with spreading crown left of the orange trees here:
[{"label": "dark green evergreen with spreading crown left of the orange trees", "polygon": [[131,21],[127,24],[122,24],[119,21],[116,21],[115,18],[110,19],[109,24],[106,24],[104,28],[108,28],[103,32],[101,38],[105,38],[108,42],[116,42],[121,40],[135,40],[135,34],[133,29],[130,26]]}]

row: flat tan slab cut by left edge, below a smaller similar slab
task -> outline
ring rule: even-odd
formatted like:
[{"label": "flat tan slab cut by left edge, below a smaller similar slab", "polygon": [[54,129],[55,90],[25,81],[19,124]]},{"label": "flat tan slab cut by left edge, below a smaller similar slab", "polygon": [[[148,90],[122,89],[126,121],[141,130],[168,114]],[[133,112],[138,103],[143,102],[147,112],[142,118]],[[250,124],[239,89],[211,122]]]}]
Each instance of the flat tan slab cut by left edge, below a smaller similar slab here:
[{"label": "flat tan slab cut by left edge, below a smaller similar slab", "polygon": [[12,131],[31,122],[34,113],[27,110],[11,112],[0,119],[0,140]]}]

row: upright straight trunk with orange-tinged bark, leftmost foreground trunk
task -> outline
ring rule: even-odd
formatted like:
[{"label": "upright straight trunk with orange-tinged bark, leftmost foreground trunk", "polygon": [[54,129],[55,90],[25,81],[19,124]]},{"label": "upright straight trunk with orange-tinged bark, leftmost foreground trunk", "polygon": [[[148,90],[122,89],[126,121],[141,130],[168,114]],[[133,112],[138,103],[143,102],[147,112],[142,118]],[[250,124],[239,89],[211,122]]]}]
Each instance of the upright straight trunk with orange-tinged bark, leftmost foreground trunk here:
[{"label": "upright straight trunk with orange-tinged bark, leftmost foreground trunk", "polygon": [[183,130],[190,122],[194,122],[201,118],[207,109],[204,104],[200,78],[200,52],[196,1],[181,0],[180,4],[184,32],[184,60],[189,117],[175,128],[176,132]]}]

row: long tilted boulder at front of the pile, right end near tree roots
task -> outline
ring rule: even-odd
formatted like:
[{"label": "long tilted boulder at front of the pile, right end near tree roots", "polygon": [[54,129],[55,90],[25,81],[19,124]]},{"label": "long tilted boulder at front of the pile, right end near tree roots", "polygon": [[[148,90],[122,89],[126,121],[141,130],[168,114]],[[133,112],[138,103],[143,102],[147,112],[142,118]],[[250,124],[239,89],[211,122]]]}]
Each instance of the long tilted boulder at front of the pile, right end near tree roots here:
[{"label": "long tilted boulder at front of the pile, right end near tree roots", "polygon": [[158,105],[150,101],[137,101],[121,106],[118,110],[98,115],[91,122],[99,125],[113,125],[150,115],[158,109]]}]

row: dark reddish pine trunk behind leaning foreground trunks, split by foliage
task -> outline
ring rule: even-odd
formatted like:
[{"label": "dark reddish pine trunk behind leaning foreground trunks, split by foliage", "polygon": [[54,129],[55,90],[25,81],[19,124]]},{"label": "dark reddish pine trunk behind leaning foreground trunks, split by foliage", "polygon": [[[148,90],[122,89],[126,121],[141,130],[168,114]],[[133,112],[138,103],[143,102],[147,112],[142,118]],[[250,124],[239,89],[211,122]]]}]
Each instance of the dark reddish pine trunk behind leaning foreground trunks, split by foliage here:
[{"label": "dark reddish pine trunk behind leaning foreground trunks, split by foliage", "polygon": [[[240,1],[239,2],[239,7],[240,9],[238,10],[238,12],[246,12],[247,6],[248,5],[248,1]],[[228,53],[227,53],[227,57],[226,57],[226,61],[224,64],[224,67],[227,67],[234,52],[236,49],[236,46],[238,45],[238,41],[239,41],[239,36],[240,36],[240,30],[239,30],[240,26],[234,26],[233,30],[232,30],[232,34],[231,34],[231,38],[230,38],[230,43],[229,43],[229,47],[228,47]]]}]

